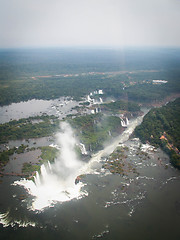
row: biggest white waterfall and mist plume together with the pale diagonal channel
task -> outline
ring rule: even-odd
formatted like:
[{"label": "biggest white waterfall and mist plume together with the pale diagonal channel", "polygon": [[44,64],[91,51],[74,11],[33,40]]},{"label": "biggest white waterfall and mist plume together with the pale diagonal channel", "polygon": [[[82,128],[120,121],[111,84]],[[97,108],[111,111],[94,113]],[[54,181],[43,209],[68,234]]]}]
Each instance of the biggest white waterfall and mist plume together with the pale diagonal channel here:
[{"label": "biggest white waterfall and mist plume together with the pale diagonal channel", "polygon": [[41,166],[40,173],[36,172],[34,181],[22,179],[14,185],[23,186],[29,194],[34,196],[31,210],[43,210],[53,206],[56,202],[70,201],[87,196],[83,190],[85,184],[75,184],[77,176],[95,173],[96,164],[101,158],[112,153],[113,150],[129,139],[135,127],[141,123],[143,116],[130,120],[127,128],[113,142],[109,143],[103,150],[92,155],[88,163],[80,161],[74,151],[77,140],[70,125],[61,123],[61,131],[56,135],[57,146],[60,153],[54,163]]}]

